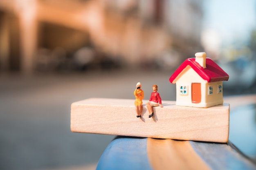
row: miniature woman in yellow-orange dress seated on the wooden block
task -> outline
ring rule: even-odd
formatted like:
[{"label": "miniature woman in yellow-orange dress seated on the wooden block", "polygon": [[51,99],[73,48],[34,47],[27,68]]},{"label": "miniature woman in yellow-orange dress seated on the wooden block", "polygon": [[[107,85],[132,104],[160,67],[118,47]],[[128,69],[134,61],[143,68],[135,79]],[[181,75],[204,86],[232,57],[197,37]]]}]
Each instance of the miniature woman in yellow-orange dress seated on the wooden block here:
[{"label": "miniature woman in yellow-orange dress seated on the wooden block", "polygon": [[141,117],[141,111],[142,111],[142,99],[144,98],[144,91],[141,89],[141,84],[138,82],[136,84],[136,89],[134,91],[135,95],[135,107],[136,107],[136,113],[137,117]]}]

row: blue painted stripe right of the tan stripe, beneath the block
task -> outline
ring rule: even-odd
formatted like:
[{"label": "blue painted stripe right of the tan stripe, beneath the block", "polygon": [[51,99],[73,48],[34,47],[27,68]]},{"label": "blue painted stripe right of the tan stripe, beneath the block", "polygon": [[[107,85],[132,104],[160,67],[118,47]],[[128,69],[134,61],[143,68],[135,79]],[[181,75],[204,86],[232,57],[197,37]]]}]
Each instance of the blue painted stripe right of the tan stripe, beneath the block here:
[{"label": "blue painted stripe right of the tan stripe, beneath the block", "polygon": [[213,170],[256,170],[256,166],[227,144],[189,141],[195,152]]}]

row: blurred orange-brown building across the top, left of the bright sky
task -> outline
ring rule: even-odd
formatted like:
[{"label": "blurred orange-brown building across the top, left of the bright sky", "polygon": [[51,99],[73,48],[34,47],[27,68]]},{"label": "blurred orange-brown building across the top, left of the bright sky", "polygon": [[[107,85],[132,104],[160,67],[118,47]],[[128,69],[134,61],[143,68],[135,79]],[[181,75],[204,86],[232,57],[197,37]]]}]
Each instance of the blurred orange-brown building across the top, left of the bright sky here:
[{"label": "blurred orange-brown building across the top, left of the bright sky", "polygon": [[202,0],[1,0],[0,70],[172,68],[202,17]]}]

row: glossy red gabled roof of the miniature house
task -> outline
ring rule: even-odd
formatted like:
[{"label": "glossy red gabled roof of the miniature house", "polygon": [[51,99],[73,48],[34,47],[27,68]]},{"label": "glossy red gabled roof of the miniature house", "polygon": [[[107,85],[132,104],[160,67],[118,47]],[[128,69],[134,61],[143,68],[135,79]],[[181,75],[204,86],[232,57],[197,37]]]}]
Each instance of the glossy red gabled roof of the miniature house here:
[{"label": "glossy red gabled roof of the miniature house", "polygon": [[229,75],[223,71],[218,64],[211,60],[211,58],[206,58],[206,68],[200,66],[200,64],[195,61],[195,58],[188,58],[177,68],[173,75],[171,75],[169,81],[173,83],[173,80],[188,65],[191,66],[202,79],[207,80],[207,82],[227,81],[229,79]]}]

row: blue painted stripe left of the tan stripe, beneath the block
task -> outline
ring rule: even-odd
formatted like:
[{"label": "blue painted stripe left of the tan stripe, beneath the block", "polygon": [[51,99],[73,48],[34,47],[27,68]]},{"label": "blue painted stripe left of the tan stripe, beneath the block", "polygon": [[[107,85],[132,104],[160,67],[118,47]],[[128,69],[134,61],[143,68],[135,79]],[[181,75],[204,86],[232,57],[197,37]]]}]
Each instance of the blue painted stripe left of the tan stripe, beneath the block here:
[{"label": "blue painted stripe left of the tan stripe, beneath the block", "polygon": [[147,138],[117,137],[105,149],[96,170],[153,170]]}]

